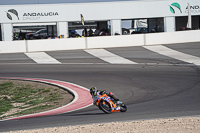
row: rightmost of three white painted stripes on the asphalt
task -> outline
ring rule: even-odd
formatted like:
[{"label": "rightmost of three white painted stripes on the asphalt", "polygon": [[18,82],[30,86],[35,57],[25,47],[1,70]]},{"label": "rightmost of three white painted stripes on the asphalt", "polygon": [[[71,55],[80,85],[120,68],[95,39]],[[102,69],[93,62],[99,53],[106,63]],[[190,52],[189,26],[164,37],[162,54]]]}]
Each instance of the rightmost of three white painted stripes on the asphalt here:
[{"label": "rightmost of three white painted stripes on the asphalt", "polygon": [[159,53],[161,55],[165,55],[171,58],[175,58],[177,60],[181,60],[184,62],[192,63],[195,65],[200,65],[200,58],[196,56],[192,56],[189,54],[185,54],[170,48],[167,48],[165,46],[159,45],[159,46],[143,46],[144,48],[154,51],[156,53]]}]

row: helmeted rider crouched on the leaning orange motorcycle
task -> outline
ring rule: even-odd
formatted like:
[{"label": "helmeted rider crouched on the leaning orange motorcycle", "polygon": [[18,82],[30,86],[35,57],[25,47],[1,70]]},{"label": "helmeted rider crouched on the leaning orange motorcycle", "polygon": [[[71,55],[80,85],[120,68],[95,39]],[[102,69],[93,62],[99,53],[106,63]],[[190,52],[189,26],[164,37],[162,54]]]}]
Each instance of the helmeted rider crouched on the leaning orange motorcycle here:
[{"label": "helmeted rider crouched on the leaning orange motorcycle", "polygon": [[[92,95],[92,98],[93,98],[93,104],[95,104],[96,101],[99,99],[99,97],[100,97],[101,95],[103,95],[103,94],[107,94],[109,97],[111,97],[112,99],[114,99],[114,101],[113,101],[114,103],[116,103],[116,102],[117,102],[117,104],[120,104],[120,103],[121,103],[121,101],[119,101],[119,99],[116,98],[112,92],[106,93],[105,90],[100,91],[100,90],[97,90],[96,87],[92,87],[92,88],[90,89],[90,94]],[[120,109],[120,108],[119,108],[118,106],[115,108],[115,110],[119,110],[119,109]]]}]

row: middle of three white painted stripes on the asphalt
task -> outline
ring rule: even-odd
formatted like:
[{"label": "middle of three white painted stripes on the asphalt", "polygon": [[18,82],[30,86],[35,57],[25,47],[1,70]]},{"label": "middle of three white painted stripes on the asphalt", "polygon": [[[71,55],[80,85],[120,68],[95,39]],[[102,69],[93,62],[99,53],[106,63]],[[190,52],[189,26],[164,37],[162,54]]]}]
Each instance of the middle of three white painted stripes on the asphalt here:
[{"label": "middle of three white painted stripes on the asphalt", "polygon": [[90,49],[85,51],[111,64],[137,64],[131,60],[115,55],[105,49]]}]

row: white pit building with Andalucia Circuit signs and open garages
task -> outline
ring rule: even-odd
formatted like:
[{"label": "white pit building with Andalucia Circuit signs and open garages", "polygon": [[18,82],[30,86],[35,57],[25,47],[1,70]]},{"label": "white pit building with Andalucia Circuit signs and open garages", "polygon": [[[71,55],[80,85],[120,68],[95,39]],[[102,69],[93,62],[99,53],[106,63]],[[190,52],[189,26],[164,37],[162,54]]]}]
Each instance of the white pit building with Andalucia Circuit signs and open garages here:
[{"label": "white pit building with Andalucia Circuit signs and open garages", "polygon": [[131,34],[181,30],[187,26],[188,9],[191,9],[192,29],[200,28],[199,0],[90,1],[52,4],[49,0],[49,3],[43,4],[42,0],[38,0],[38,3],[16,2],[14,5],[0,2],[0,39],[11,41],[13,30],[28,33],[44,28],[50,36],[69,37],[71,30],[83,30],[80,14],[84,16],[85,28],[104,29],[115,35],[116,32]]}]

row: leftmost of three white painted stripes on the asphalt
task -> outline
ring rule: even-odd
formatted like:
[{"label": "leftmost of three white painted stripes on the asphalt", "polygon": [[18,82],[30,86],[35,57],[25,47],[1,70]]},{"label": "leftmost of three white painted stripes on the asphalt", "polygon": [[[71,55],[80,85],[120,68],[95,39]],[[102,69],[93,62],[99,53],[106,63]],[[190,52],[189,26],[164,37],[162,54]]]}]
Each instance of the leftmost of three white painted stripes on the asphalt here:
[{"label": "leftmost of three white painted stripes on the asphalt", "polygon": [[25,53],[29,58],[34,60],[38,64],[61,64],[50,55],[45,52]]}]

